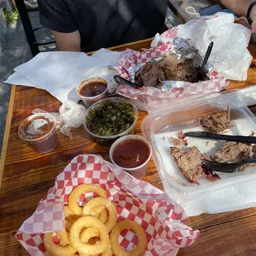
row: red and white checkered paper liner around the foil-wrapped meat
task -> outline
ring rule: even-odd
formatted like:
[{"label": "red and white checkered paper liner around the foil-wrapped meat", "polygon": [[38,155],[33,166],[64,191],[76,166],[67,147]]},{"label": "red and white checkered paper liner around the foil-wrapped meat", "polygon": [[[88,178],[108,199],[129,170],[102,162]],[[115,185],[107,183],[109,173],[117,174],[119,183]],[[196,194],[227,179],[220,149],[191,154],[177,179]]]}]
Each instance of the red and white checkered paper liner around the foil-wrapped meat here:
[{"label": "red and white checkered paper liner around the foil-wrapped meat", "polygon": [[[173,29],[165,31],[161,35],[162,38],[165,37],[170,41],[164,42],[163,40],[160,40],[158,46],[142,52],[129,49],[124,51],[119,59],[119,65],[117,68],[118,73],[120,73],[121,77],[130,80],[130,75],[127,72],[127,69],[135,67],[141,63],[149,62],[151,59],[164,55],[166,51],[173,48],[171,40],[177,37],[177,34],[178,26],[175,26]],[[121,96],[137,100],[140,103],[156,104],[166,102],[168,99],[173,99],[176,97],[184,97],[209,92],[220,92],[226,88],[228,82],[224,77],[218,77],[216,70],[212,70],[209,74],[211,76],[211,80],[199,83],[185,83],[184,88],[175,88],[170,92],[163,92],[159,88],[154,87],[135,89],[122,84],[116,89],[116,92]]]}]

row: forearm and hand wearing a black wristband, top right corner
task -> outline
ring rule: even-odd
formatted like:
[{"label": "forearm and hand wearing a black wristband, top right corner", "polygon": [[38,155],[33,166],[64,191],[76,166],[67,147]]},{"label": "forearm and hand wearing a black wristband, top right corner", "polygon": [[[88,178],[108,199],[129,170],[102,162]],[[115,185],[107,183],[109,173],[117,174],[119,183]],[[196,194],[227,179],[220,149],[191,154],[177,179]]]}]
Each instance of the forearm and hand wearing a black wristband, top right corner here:
[{"label": "forearm and hand wearing a black wristband, top right corner", "polygon": [[[220,2],[236,14],[246,17],[249,5],[254,2],[254,0],[220,0]],[[253,21],[252,31],[256,32],[256,5],[250,13],[250,18]]]}]

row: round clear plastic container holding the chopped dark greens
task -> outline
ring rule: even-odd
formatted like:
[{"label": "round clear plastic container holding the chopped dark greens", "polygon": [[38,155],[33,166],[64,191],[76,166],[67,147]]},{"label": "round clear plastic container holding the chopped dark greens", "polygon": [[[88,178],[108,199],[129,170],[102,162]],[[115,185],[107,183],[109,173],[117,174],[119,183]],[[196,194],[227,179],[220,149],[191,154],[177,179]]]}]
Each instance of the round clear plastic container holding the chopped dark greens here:
[{"label": "round clear plastic container holding the chopped dark greens", "polygon": [[[96,135],[91,130],[89,130],[89,128],[88,128],[89,123],[88,123],[88,120],[87,120],[88,113],[91,110],[93,110],[94,108],[96,108],[103,101],[104,102],[107,102],[107,101],[111,101],[111,102],[128,102],[132,106],[133,110],[135,111],[135,120],[132,123],[132,125],[127,130],[124,130],[120,134],[112,135],[112,136]],[[109,97],[107,99],[103,99],[103,100],[101,100],[99,102],[96,102],[96,103],[92,104],[92,106],[88,108],[88,110],[85,113],[85,117],[84,117],[84,121],[83,121],[83,126],[84,126],[84,129],[88,132],[89,135],[92,136],[92,139],[97,144],[99,144],[99,145],[111,145],[115,140],[121,138],[122,136],[134,134],[135,124],[136,124],[136,121],[138,119],[138,116],[139,116],[138,110],[137,110],[137,108],[135,107],[135,105],[132,102],[130,102],[130,101],[124,99],[124,98],[121,98],[121,97]]]}]

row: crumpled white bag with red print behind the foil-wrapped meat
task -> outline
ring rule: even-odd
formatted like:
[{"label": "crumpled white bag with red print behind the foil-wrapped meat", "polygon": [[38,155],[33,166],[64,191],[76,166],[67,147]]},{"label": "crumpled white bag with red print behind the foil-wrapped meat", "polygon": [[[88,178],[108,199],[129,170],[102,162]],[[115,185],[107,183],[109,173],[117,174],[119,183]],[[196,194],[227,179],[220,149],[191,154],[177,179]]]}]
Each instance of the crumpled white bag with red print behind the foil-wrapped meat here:
[{"label": "crumpled white bag with red print behind the foil-wrapped meat", "polygon": [[151,46],[173,41],[176,37],[191,39],[201,56],[211,41],[214,46],[209,62],[226,79],[244,81],[252,61],[247,47],[251,31],[240,24],[235,24],[233,14],[217,12],[214,16],[201,17],[186,24],[178,25],[156,35]]}]

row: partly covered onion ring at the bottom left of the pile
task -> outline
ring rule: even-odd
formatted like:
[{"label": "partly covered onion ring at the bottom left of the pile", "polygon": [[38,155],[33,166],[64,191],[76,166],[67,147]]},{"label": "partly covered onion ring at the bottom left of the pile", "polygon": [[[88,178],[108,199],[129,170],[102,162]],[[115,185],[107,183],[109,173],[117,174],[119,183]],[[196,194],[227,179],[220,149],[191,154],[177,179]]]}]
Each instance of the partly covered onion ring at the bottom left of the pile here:
[{"label": "partly covered onion ring at the bottom left of the pile", "polygon": [[55,244],[53,240],[53,233],[45,233],[43,237],[45,250],[51,255],[70,256],[76,253],[76,249],[72,245],[60,246]]}]

